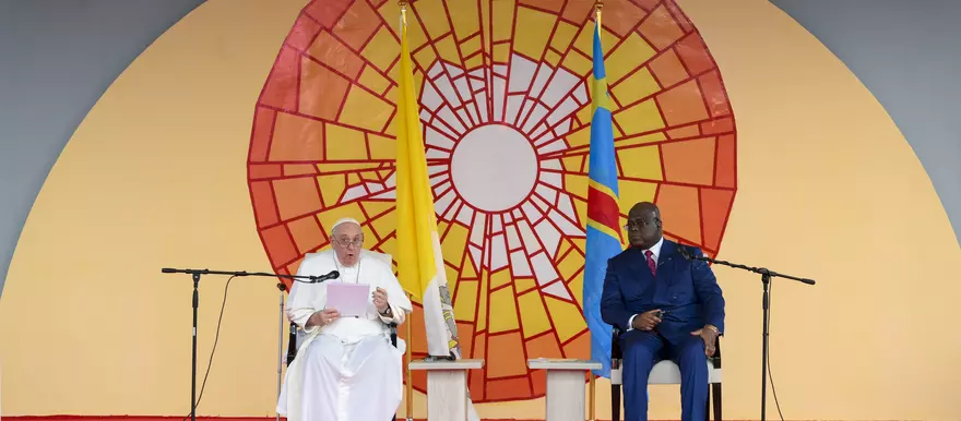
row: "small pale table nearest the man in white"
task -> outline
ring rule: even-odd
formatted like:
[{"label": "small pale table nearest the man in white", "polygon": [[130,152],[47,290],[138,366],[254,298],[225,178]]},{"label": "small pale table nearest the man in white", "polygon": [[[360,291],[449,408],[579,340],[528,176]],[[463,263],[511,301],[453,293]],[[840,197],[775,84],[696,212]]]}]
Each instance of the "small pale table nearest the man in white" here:
[{"label": "small pale table nearest the man in white", "polygon": [[467,370],[484,360],[411,361],[407,370],[427,371],[427,421],[467,420]]}]

